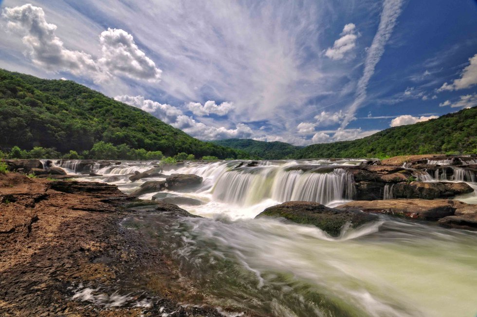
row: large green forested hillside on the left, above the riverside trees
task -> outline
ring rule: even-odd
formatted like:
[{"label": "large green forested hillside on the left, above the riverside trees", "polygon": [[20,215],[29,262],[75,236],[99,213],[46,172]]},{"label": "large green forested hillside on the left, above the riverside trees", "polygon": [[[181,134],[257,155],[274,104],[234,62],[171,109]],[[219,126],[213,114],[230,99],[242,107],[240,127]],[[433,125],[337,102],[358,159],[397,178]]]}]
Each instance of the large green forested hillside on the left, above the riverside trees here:
[{"label": "large green forested hillside on the left, above the riverside trees", "polygon": [[70,80],[0,69],[0,148],[92,149],[104,141],[132,149],[236,158],[243,152],[202,142],[147,112]]}]

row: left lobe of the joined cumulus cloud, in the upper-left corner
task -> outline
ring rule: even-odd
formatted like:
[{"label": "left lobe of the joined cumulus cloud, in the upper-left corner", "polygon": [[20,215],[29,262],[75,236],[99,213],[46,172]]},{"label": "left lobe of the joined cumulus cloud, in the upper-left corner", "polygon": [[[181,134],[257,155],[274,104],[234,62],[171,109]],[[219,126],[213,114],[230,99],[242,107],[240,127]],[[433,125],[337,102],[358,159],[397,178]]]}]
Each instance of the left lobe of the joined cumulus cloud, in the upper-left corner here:
[{"label": "left lobe of the joined cumulus cloud, in the upper-left corner", "polygon": [[55,36],[56,25],[46,21],[42,8],[31,4],[5,8],[2,17],[8,21],[10,31],[23,36],[22,41],[36,65],[48,71],[67,70],[75,75],[98,71],[91,55],[64,48],[63,42]]}]

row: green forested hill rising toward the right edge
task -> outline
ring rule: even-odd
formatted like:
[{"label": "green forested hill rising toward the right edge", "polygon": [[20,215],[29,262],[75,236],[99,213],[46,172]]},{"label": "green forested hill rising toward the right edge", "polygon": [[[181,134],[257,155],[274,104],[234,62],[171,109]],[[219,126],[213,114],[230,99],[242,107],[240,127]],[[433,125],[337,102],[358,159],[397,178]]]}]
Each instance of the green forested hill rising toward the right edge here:
[{"label": "green forested hill rising toward the right edge", "polygon": [[298,150],[295,158],[429,153],[477,154],[477,107],[429,121],[389,128],[358,140],[310,145]]}]

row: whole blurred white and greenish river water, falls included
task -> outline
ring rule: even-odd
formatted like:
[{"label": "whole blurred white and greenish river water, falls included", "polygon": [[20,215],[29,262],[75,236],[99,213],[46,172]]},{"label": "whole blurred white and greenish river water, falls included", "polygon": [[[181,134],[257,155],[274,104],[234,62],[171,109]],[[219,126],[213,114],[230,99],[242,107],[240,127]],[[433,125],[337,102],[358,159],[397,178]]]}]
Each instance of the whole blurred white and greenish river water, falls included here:
[{"label": "whole blurred white and greenish river water, falls included", "polygon": [[[293,167],[362,162],[185,164],[165,173],[202,176],[202,186],[164,195],[199,200],[202,205],[179,205],[203,218],[143,214],[124,225],[143,230],[149,242],[173,254],[183,274],[198,280],[200,291],[218,306],[264,316],[475,317],[476,232],[380,216],[378,222],[331,238],[314,226],[254,219],[266,207],[290,200],[328,206],[349,201],[354,186],[344,168],[307,173]],[[128,180],[130,173],[153,166],[154,162],[122,162],[98,168],[95,172],[103,176],[84,180],[109,181],[130,193],[146,181],[163,180]],[[477,189],[477,183],[469,185]],[[475,204],[476,192],[457,199]]]}]

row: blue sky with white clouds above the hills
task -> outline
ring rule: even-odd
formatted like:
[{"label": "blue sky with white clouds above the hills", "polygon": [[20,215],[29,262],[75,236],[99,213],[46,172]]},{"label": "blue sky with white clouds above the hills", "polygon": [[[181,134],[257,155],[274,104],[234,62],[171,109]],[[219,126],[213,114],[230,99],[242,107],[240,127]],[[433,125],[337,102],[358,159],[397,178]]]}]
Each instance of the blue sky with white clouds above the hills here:
[{"label": "blue sky with white clouds above the hills", "polygon": [[201,140],[298,146],[477,106],[476,0],[0,1],[0,68]]}]

